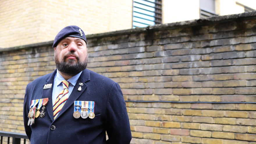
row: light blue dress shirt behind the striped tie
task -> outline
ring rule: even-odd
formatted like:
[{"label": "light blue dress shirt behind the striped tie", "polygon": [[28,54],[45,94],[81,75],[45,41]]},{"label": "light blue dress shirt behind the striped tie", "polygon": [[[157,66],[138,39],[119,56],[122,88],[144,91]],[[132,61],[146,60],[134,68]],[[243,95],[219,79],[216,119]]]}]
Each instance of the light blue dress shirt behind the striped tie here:
[{"label": "light blue dress shirt behind the striped tie", "polygon": [[[80,77],[81,73],[82,72],[79,72],[79,74],[77,74],[67,80],[70,82],[70,84],[68,86],[68,97],[72,93],[72,90],[74,89],[74,86],[76,85],[77,80]],[[54,105],[57,96],[59,95],[61,90],[63,90],[63,84],[61,83],[61,81],[63,81],[63,80],[65,80],[65,79],[61,76],[61,74],[57,70],[57,72],[54,76],[54,84],[53,84],[53,90],[52,90],[52,105]]]}]

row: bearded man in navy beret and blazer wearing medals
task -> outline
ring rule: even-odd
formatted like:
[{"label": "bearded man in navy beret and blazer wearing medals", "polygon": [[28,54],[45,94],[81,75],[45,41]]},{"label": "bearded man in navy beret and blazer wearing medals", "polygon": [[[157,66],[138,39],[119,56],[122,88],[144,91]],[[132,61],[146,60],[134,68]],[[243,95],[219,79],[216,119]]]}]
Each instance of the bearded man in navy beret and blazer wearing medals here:
[{"label": "bearded man in navy beret and blazer wearing medals", "polygon": [[31,144],[130,143],[120,86],[86,69],[86,44],[78,26],[63,28],[53,44],[57,69],[27,85],[23,115]]}]

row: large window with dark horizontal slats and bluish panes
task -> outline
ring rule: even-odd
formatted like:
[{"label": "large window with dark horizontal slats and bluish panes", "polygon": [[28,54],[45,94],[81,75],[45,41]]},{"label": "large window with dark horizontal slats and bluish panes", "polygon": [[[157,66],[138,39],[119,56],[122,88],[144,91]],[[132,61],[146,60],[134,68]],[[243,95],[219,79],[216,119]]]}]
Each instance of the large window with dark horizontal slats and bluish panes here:
[{"label": "large window with dark horizontal slats and bluish panes", "polygon": [[162,23],[161,0],[133,1],[133,28]]}]

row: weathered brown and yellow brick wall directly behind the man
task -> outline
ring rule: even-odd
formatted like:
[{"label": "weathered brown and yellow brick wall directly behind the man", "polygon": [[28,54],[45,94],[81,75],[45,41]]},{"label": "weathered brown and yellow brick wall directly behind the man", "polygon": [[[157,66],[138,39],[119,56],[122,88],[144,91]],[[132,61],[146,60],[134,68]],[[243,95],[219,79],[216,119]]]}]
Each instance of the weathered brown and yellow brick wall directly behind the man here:
[{"label": "weathered brown and yellow brick wall directly behind the man", "polygon": [[[131,143],[256,144],[256,13],[87,35],[88,69],[122,88]],[[26,84],[52,42],[1,49],[0,130],[24,132]]]}]

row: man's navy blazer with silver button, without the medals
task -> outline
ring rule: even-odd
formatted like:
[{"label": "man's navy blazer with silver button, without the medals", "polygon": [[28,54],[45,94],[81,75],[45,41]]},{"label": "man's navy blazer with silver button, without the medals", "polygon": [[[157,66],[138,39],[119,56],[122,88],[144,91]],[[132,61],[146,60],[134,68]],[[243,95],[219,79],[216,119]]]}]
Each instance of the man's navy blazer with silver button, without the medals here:
[{"label": "man's navy blazer with silver button, without the medals", "polygon": [[[118,83],[90,70],[83,70],[72,93],[54,120],[52,108],[52,88],[43,89],[45,84],[54,84],[53,73],[35,79],[26,87],[24,98],[24,126],[31,144],[88,143],[88,144],[128,144],[131,130],[126,104]],[[79,83],[83,83],[79,91]],[[35,118],[28,126],[31,100],[49,98],[45,106],[45,116]],[[94,101],[95,118],[74,118],[74,101]],[[55,101],[55,100],[54,100]],[[41,111],[41,110],[40,110]],[[55,126],[51,130],[51,126]],[[106,132],[109,139],[106,141]]]}]

